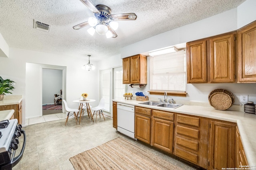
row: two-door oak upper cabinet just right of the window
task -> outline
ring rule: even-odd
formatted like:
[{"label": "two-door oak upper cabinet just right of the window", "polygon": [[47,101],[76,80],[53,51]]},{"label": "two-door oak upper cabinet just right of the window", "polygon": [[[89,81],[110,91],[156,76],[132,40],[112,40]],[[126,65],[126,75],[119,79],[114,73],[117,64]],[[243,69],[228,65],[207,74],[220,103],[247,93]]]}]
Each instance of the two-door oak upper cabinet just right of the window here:
[{"label": "two-door oak upper cabinet just right of the window", "polygon": [[235,82],[236,32],[187,43],[188,83]]}]

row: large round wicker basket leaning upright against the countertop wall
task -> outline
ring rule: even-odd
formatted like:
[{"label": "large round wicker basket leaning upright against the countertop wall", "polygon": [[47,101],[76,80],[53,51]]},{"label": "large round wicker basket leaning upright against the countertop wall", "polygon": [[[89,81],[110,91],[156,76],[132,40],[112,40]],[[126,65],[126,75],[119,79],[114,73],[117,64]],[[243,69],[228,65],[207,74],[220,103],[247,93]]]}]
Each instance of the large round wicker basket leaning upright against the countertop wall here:
[{"label": "large round wicker basket leaning upright against the countertop wall", "polygon": [[235,98],[230,91],[218,88],[210,92],[208,101],[214,109],[226,110],[234,104]]}]

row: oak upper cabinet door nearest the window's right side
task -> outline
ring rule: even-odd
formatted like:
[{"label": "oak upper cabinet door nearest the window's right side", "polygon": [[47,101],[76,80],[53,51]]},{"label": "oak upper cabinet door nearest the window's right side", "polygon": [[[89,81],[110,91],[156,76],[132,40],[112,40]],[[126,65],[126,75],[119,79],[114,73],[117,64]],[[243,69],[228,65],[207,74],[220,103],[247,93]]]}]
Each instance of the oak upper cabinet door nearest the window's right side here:
[{"label": "oak upper cabinet door nearest the window's right side", "polygon": [[206,83],[206,41],[187,43],[188,83]]}]

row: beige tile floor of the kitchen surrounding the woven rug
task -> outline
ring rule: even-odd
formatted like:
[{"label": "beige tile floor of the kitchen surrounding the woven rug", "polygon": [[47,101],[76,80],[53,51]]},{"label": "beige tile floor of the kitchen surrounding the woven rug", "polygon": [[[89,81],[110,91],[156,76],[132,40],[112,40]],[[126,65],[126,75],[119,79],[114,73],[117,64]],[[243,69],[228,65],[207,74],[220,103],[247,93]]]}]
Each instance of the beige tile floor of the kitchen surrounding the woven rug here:
[{"label": "beige tile floor of the kitchen surrounding the woven rug", "polygon": [[[70,157],[117,137],[126,138],[184,170],[197,169],[169,154],[120,134],[112,127],[110,118],[106,118],[106,121],[103,118],[97,119],[97,122],[93,123],[88,116],[84,116],[80,125],[76,125],[74,119],[68,119],[65,126],[65,119],[62,118],[47,122],[53,117],[46,116],[38,121],[34,121],[34,118],[28,120],[28,126],[23,127],[27,137],[24,155],[13,170],[74,170],[69,161]],[[39,123],[40,121],[44,123]],[[23,143],[22,140],[23,137],[20,137],[20,143]]]}]

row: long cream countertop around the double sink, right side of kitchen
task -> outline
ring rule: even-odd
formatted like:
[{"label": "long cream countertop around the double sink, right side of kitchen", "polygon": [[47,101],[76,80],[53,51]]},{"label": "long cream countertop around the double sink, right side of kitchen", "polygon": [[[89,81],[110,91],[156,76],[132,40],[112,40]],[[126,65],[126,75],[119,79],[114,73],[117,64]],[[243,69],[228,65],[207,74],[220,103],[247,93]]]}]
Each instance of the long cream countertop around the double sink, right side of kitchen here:
[{"label": "long cream countertop around the double sink, right side of kitchen", "polygon": [[139,104],[142,101],[135,99],[127,100],[113,100],[113,102],[120,102],[124,104],[131,104],[134,106],[148,107],[151,109],[158,109],[164,111],[173,111],[175,113],[184,113],[188,115],[196,115],[201,117],[208,117],[211,119],[218,119],[223,121],[235,122],[237,124],[244,152],[248,160],[249,165],[256,165],[256,115],[245,113],[243,111],[232,111],[232,110],[216,110],[213,107],[204,106],[188,106],[183,105],[176,109],[159,107],[159,106],[148,106]]}]

